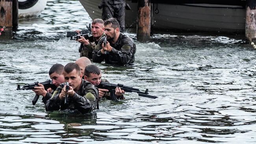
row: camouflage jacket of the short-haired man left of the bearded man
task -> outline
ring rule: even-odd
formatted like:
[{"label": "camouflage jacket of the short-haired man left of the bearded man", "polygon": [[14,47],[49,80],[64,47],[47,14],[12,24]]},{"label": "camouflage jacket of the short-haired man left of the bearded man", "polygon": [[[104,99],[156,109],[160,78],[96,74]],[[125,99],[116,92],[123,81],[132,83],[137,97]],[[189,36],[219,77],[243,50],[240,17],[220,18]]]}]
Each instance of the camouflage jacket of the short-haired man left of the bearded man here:
[{"label": "camouflage jacket of the short-haired man left of the bearded man", "polygon": [[[105,36],[105,33],[101,35],[100,39],[104,36]],[[88,59],[93,58],[93,50],[95,50],[96,45],[98,44],[98,41],[96,41],[96,39],[93,38],[93,41],[92,39],[89,39],[89,42],[90,44],[86,46],[84,46],[83,44],[80,45],[80,49],[81,49],[80,57],[87,57]]]}]

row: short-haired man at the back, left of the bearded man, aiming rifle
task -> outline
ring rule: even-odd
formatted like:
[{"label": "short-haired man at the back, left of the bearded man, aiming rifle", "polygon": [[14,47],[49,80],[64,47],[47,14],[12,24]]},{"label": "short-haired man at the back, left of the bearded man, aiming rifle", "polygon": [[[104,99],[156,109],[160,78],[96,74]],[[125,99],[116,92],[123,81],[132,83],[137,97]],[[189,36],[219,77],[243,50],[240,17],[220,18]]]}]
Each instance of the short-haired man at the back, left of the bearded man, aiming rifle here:
[{"label": "short-haired man at the back, left of the bearded man, aiming rifle", "polygon": [[[80,31],[78,30],[78,32]],[[91,33],[93,34],[93,41],[89,41],[82,36],[80,36],[80,39],[76,40],[81,43],[80,57],[87,57],[89,59],[93,58],[93,50],[95,50],[98,41],[105,36],[104,21],[102,19],[96,18],[93,20],[91,24]]]}]

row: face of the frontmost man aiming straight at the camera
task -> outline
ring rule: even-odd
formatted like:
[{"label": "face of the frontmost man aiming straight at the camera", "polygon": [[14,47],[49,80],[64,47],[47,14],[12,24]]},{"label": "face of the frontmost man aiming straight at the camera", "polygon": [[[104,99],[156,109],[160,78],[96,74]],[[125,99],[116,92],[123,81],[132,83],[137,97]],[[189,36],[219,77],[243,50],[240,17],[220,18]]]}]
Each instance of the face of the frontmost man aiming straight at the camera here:
[{"label": "face of the frontmost man aiming straight at the camera", "polygon": [[80,88],[80,85],[82,83],[82,76],[83,74],[79,74],[79,72],[74,69],[72,72],[67,73],[63,72],[65,82],[69,82],[69,86],[74,89],[74,91],[77,91]]}]

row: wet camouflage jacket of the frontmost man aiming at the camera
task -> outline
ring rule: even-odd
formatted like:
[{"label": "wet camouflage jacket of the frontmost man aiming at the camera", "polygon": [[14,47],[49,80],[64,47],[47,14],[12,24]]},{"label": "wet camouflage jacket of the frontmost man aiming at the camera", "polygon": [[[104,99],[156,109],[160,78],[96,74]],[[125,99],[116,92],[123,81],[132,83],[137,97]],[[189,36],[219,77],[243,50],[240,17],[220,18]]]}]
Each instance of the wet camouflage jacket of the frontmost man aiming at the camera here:
[{"label": "wet camouflage jacket of the frontmost man aiming at the camera", "polygon": [[[98,89],[94,87],[91,83],[88,81],[85,81],[82,79],[82,86],[78,90],[78,92],[74,94],[73,97],[68,97],[68,105],[65,105],[64,98],[63,100],[59,99],[59,94],[61,93],[61,90],[63,89],[65,83],[62,83],[52,95],[52,98],[50,98],[45,105],[46,111],[58,111],[70,109],[70,110],[78,110],[81,113],[90,113],[94,109],[96,109],[98,105]],[[95,96],[95,100],[91,101],[86,98],[87,93],[93,94]],[[56,93],[56,94],[55,94]]]}]

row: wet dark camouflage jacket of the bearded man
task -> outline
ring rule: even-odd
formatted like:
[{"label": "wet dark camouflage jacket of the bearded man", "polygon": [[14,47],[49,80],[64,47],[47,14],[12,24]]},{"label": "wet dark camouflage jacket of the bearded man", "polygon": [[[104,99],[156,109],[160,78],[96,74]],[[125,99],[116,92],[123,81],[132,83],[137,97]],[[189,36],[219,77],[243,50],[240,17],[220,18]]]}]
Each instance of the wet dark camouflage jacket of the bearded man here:
[{"label": "wet dark camouflage jacket of the bearded man", "polygon": [[107,64],[111,65],[132,65],[134,63],[136,45],[130,37],[120,33],[115,44],[109,42],[110,46],[112,47],[112,51],[106,52],[106,54],[101,54],[100,50],[102,49],[104,39],[104,37],[100,39],[96,49],[93,52],[93,62],[101,63],[105,60]]}]

